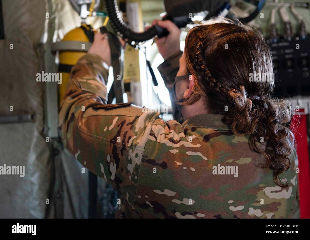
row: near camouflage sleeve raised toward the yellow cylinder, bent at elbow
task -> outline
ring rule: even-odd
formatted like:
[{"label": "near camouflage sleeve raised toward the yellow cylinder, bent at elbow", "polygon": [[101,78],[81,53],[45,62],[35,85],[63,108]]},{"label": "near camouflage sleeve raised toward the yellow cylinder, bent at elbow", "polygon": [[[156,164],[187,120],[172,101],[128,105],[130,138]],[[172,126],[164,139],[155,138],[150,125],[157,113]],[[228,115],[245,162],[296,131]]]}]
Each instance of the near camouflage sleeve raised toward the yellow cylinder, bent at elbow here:
[{"label": "near camouflage sleeve raised toward the yellow cylinder, bent at elbow", "polygon": [[99,57],[85,55],[78,61],[61,103],[59,128],[73,156],[132,205],[144,147],[159,113],[104,104],[107,76]]}]

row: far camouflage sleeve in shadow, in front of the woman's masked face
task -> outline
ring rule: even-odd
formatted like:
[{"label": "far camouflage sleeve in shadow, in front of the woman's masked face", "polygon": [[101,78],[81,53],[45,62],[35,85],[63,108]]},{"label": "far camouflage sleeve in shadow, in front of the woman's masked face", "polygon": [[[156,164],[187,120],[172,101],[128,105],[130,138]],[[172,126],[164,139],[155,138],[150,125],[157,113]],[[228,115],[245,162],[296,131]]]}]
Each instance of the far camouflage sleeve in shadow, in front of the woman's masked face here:
[{"label": "far camouflage sleeve in shadow, in front of the woman's masked face", "polygon": [[166,88],[169,90],[171,105],[173,109],[173,117],[175,120],[179,122],[183,122],[183,118],[181,117],[178,109],[176,108],[175,97],[173,95],[172,87],[175,81],[175,76],[179,71],[179,59],[181,58],[183,52],[179,51],[175,55],[167,58],[162,64],[158,66],[158,71],[162,75],[162,79],[166,85]]}]

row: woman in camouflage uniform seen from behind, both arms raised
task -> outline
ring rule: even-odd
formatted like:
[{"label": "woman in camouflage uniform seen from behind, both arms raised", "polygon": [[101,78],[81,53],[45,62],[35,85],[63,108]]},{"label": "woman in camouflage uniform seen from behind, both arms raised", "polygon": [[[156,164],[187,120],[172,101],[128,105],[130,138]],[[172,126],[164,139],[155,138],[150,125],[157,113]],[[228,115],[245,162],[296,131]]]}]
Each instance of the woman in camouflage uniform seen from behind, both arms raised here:
[{"label": "woman in camouflage uniform seen from behind, both arms raised", "polygon": [[289,103],[271,98],[271,78],[249,77],[272,73],[262,35],[212,20],[189,31],[182,53],[179,29],[170,21],[155,23],[170,32],[157,40],[165,59],[159,70],[175,89],[175,116],[185,121],[105,104],[111,59],[98,33],[73,67],[61,104],[65,146],[122,196],[117,217],[294,217],[293,113]]}]

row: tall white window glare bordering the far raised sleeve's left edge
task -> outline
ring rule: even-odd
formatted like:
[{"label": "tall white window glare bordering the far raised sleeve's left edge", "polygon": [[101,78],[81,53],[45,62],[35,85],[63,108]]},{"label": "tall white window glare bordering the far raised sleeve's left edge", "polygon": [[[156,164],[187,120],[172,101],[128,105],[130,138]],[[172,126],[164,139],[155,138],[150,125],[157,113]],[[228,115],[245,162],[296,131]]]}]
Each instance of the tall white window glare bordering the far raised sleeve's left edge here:
[{"label": "tall white window glare bordering the far raised sleeve's left edge", "polygon": [[169,96],[169,91],[165,86],[164,80],[162,79],[162,76],[160,75],[157,67],[164,62],[164,59],[162,58],[162,55],[159,53],[156,55],[153,63],[152,63],[152,68],[156,77],[156,80],[158,82],[157,89],[160,89],[158,91],[158,96],[160,100],[162,100],[163,103],[165,103],[168,106],[171,106],[171,101],[170,101],[170,96]]}]

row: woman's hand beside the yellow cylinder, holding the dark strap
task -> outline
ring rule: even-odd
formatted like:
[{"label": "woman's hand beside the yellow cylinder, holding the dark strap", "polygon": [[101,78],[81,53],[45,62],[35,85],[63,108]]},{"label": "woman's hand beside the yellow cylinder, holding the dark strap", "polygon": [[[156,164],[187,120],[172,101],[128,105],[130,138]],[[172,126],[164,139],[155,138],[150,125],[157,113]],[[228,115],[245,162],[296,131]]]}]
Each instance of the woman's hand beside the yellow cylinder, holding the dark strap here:
[{"label": "woman's hand beside the yellow cylinder, holding the dark strap", "polygon": [[108,66],[111,66],[111,50],[107,34],[95,33],[94,42],[87,53],[100,56]]}]

